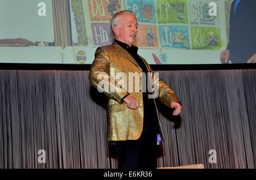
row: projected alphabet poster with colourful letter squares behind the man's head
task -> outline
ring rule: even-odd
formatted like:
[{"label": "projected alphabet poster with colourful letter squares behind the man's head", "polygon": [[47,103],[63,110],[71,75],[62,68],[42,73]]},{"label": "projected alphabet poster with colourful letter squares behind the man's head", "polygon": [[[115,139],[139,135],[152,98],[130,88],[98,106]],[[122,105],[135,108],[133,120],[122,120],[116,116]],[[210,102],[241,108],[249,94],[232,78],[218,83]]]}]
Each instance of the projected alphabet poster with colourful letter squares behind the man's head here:
[{"label": "projected alphabet poster with colourful letter squares behind the man's head", "polygon": [[221,34],[219,1],[89,0],[88,7],[96,46],[113,42],[109,21],[120,10],[137,15],[136,45],[142,49],[220,50],[226,42]]}]

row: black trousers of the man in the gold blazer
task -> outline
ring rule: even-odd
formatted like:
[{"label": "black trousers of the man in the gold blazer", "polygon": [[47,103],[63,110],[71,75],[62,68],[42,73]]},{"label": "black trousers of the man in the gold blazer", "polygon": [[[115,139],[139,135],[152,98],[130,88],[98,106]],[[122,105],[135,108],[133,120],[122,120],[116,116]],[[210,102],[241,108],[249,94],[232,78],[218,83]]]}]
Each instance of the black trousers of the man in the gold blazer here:
[{"label": "black trousers of the man in the gold blazer", "polygon": [[138,140],[117,142],[118,169],[156,169],[156,135],[142,132]]}]

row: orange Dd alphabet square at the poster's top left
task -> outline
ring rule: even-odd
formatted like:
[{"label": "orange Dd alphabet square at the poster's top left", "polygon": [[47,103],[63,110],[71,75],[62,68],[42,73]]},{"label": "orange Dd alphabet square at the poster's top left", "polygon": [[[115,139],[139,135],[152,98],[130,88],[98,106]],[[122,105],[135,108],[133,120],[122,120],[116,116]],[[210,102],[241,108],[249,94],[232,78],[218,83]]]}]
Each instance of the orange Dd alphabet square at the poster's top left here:
[{"label": "orange Dd alphabet square at the poster's top left", "polygon": [[110,21],[115,12],[121,11],[121,0],[88,0],[92,22]]}]

